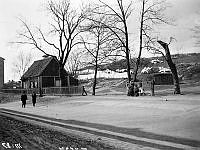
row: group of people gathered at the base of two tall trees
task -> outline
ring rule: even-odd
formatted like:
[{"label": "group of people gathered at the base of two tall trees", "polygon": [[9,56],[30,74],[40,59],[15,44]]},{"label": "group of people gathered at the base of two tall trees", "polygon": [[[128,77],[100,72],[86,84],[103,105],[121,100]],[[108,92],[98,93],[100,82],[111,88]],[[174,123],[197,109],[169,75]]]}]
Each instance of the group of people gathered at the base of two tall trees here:
[{"label": "group of people gathered at the base of two tall trees", "polygon": [[128,96],[140,96],[144,95],[144,89],[142,87],[142,84],[137,84],[134,82],[131,82],[130,84],[127,85],[128,87]]}]

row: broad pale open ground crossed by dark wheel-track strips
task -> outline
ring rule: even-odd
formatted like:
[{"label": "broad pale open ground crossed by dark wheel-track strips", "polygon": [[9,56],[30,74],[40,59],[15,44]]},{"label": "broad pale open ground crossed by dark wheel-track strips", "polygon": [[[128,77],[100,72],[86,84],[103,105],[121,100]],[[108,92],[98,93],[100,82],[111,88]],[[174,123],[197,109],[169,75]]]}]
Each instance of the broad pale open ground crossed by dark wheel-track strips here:
[{"label": "broad pale open ground crossed by dark wheel-track strips", "polygon": [[127,141],[142,141],[143,146],[145,142],[186,149],[199,146],[198,95],[61,97],[59,103],[38,102],[35,108],[28,104],[22,109],[20,102],[1,104],[0,108],[57,119],[54,121]]}]

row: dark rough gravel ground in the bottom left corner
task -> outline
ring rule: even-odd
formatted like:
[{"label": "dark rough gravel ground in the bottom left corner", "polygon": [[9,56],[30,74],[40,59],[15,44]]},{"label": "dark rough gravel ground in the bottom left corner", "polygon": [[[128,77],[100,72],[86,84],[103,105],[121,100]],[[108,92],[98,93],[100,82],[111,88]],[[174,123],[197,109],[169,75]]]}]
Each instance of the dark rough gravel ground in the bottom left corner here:
[{"label": "dark rough gravel ground in the bottom left corner", "polygon": [[0,150],[114,150],[97,141],[68,136],[37,125],[0,116]]}]

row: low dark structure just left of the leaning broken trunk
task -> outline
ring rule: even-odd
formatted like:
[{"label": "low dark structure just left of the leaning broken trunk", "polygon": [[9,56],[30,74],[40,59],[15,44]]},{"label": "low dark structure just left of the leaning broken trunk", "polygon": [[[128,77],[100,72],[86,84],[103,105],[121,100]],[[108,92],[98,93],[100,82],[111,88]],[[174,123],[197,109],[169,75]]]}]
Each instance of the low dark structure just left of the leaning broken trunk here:
[{"label": "low dark structure just left of the leaning broken trunk", "polygon": [[153,74],[153,80],[155,85],[173,85],[172,73],[155,73]]}]

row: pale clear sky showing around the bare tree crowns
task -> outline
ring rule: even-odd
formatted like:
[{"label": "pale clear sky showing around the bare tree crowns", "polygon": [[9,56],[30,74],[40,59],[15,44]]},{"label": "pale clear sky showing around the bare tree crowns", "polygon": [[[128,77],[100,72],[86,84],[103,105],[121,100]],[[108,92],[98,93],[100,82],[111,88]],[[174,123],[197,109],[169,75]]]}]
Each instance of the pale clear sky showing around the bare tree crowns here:
[{"label": "pale clear sky showing around the bare tree crowns", "polygon": [[[93,2],[93,0],[90,0]],[[113,2],[115,0],[110,0]],[[138,1],[138,0],[135,0]],[[48,23],[48,14],[45,11],[45,3],[47,0],[0,0],[0,57],[5,59],[5,82],[8,80],[19,80],[16,78],[16,73],[13,71],[13,63],[20,51],[31,53],[34,60],[42,58],[42,53],[31,49],[29,46],[19,47],[10,44],[16,40],[17,32],[21,29],[21,24],[18,18],[23,18],[26,21],[36,26],[43,26]],[[81,0],[72,0],[74,6],[79,6]],[[86,2],[82,0],[82,2]],[[87,1],[88,2],[88,1]],[[171,44],[170,50],[175,53],[200,52],[200,48],[195,47],[195,40],[192,38],[192,27],[200,25],[200,0],[167,0],[171,5],[166,11],[168,17],[175,19],[176,26],[160,26],[160,39],[169,41],[172,36],[176,39]],[[137,7],[135,5],[135,7]],[[134,8],[136,11],[137,8]],[[137,12],[135,12],[137,13]],[[133,13],[134,14],[134,13]],[[129,19],[129,32],[132,36],[132,41],[137,53],[138,47],[138,24],[135,21],[134,15]],[[142,57],[151,56],[148,52],[143,52]]]}]

